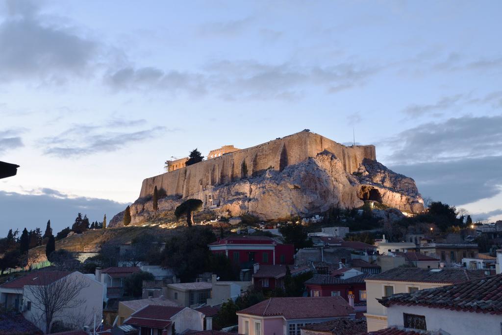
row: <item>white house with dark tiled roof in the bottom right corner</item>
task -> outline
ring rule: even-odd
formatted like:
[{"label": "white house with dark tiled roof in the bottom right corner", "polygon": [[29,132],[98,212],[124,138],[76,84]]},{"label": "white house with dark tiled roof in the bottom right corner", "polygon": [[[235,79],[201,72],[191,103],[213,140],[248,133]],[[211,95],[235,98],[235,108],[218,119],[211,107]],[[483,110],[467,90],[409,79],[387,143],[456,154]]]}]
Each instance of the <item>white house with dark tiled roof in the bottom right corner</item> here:
[{"label": "white house with dark tiled roof in the bottom right corner", "polygon": [[499,335],[502,276],[379,299],[393,327],[454,335]]}]

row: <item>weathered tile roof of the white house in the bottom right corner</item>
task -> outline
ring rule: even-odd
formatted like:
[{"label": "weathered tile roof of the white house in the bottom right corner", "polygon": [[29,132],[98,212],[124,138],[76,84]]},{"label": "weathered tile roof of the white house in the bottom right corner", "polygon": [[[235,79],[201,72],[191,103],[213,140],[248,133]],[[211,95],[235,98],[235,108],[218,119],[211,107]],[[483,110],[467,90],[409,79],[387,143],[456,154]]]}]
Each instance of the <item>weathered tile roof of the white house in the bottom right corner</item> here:
[{"label": "weathered tile roof of the white house in the bottom right corner", "polygon": [[502,314],[502,276],[496,275],[464,283],[398,293],[379,299],[384,306],[420,305],[469,312]]}]

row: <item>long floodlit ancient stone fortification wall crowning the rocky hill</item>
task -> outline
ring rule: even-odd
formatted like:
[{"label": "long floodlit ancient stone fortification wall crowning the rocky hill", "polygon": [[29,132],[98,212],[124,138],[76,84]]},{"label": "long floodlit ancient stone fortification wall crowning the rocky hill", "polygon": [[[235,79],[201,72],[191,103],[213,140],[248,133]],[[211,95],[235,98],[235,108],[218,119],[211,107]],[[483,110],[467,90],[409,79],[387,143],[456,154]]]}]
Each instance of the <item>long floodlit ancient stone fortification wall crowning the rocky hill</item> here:
[{"label": "long floodlit ancient stone fortification wall crowning the rocky hill", "polygon": [[269,168],[282,171],[286,166],[315,157],[324,150],[334,153],[348,173],[357,171],[362,159],[376,159],[374,145],[345,146],[321,135],[302,131],[147,178],[143,181],[140,197],[152,195],[157,186],[164,189],[168,196],[198,198],[208,186],[251,177]]}]

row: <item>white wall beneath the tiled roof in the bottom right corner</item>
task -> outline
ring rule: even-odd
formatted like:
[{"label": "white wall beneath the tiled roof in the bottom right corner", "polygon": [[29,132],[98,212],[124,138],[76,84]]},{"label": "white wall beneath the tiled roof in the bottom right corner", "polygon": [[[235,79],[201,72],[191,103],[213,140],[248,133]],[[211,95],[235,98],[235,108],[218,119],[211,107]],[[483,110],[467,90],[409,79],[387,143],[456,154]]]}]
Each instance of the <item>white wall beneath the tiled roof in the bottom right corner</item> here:
[{"label": "white wall beneath the tiled roof in the bottom right corner", "polygon": [[427,330],[442,329],[455,335],[500,335],[502,315],[462,312],[425,306],[391,305],[387,308],[389,326],[404,326],[403,313],[425,316]]}]

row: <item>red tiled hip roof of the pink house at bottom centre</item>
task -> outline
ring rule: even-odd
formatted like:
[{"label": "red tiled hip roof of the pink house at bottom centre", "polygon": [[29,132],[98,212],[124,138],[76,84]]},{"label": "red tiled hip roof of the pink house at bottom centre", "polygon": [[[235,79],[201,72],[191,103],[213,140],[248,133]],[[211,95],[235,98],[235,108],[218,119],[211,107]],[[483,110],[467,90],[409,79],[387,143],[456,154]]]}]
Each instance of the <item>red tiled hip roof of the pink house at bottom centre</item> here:
[{"label": "red tiled hip roof of the pink house at bottom centre", "polygon": [[285,319],[348,317],[355,313],[341,296],[270,298],[237,314],[283,316]]}]

